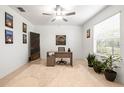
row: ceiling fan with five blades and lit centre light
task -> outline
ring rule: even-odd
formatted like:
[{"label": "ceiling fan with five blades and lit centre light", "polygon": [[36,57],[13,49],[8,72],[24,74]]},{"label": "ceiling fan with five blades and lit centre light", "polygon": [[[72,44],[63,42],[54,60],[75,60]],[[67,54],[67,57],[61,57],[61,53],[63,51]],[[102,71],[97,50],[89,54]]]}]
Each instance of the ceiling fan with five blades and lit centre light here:
[{"label": "ceiling fan with five blades and lit centre light", "polygon": [[71,16],[71,15],[75,15],[75,12],[68,12],[68,13],[64,13],[66,9],[63,8],[60,5],[56,5],[56,7],[54,8],[55,13],[51,14],[51,13],[42,13],[43,15],[55,15],[55,18],[53,18],[51,20],[51,22],[54,22],[57,19],[62,19],[65,22],[68,22],[68,20],[66,18],[64,18],[65,16]]}]

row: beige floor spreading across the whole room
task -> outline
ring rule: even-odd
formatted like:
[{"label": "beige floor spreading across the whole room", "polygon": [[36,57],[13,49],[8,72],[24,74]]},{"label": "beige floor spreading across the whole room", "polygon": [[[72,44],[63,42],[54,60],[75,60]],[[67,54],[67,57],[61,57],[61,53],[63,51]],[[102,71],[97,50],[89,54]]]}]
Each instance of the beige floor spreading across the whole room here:
[{"label": "beige floor spreading across the whole room", "polygon": [[83,60],[74,60],[74,66],[47,67],[46,61],[27,63],[0,80],[2,87],[123,87],[97,74]]}]

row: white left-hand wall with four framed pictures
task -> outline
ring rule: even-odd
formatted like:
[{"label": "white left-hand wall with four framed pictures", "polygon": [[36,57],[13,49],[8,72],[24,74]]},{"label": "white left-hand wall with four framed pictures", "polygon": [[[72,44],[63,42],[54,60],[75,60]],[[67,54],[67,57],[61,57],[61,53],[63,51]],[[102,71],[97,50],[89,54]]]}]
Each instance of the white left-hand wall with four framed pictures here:
[{"label": "white left-hand wall with four framed pictures", "polygon": [[[5,12],[13,16],[13,29],[5,27]],[[22,43],[22,22],[32,31],[32,24],[8,6],[0,6],[0,78],[28,62],[28,43]],[[13,44],[5,44],[5,29],[13,31]],[[28,35],[28,33],[27,33]]]}]

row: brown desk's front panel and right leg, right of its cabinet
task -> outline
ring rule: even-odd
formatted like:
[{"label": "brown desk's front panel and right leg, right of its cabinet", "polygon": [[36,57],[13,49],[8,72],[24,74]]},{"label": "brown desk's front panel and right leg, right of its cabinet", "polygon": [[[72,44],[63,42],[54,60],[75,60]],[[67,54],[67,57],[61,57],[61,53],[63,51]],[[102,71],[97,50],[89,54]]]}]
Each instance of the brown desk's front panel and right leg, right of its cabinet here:
[{"label": "brown desk's front panel and right leg, right of its cabinet", "polygon": [[73,66],[72,52],[55,52],[55,58],[70,58],[70,65]]}]

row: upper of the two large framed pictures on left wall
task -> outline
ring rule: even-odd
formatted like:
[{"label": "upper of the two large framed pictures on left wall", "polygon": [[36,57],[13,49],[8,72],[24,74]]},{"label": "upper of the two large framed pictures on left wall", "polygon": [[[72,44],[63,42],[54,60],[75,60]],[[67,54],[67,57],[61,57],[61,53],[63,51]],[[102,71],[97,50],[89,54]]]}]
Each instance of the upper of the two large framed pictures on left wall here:
[{"label": "upper of the two large framed pictures on left wall", "polygon": [[5,12],[5,26],[13,28],[13,16]]}]

